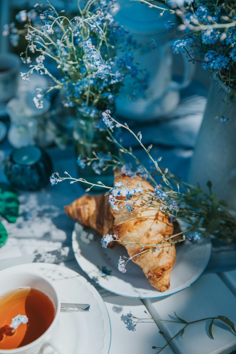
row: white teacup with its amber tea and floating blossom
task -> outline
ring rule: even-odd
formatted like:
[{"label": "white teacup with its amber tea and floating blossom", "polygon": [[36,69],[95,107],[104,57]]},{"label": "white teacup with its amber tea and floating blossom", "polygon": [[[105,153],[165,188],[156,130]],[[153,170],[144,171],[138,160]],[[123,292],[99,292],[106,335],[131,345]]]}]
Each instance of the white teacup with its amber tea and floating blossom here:
[{"label": "white teacup with its amber tea and floating blossom", "polygon": [[55,349],[59,314],[58,293],[46,278],[30,272],[0,275],[0,354]]}]

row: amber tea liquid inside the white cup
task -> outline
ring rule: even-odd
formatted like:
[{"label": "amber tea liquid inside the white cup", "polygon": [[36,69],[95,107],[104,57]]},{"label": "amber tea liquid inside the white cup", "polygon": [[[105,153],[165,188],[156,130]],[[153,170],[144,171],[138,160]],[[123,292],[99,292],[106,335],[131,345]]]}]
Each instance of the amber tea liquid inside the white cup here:
[{"label": "amber tea liquid inside the white cup", "polygon": [[[27,324],[21,324],[12,334],[12,318],[26,315]],[[15,349],[39,338],[55,317],[54,305],[38,289],[25,287],[0,296],[0,349]]]}]

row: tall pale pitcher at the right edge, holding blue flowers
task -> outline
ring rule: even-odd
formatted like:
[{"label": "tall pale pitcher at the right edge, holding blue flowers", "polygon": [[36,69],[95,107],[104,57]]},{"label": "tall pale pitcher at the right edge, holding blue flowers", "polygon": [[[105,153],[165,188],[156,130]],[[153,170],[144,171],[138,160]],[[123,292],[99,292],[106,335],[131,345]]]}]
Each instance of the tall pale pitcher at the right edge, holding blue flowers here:
[{"label": "tall pale pitcher at the right edge, holding blue flowers", "polygon": [[[236,99],[230,100],[228,87],[223,82],[222,92],[217,92],[218,84],[212,80],[188,182],[200,183],[209,193],[207,182],[211,181],[212,192],[236,208]],[[222,115],[228,118],[227,122],[220,120]]]}]

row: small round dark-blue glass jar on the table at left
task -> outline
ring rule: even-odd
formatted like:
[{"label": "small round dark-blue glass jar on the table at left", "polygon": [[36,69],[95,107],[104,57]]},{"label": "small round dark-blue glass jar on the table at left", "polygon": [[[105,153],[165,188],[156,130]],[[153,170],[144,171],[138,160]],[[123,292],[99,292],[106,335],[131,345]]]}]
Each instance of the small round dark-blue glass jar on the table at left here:
[{"label": "small round dark-blue glass jar on the table at left", "polygon": [[16,188],[31,191],[44,187],[52,170],[49,155],[36,146],[13,150],[5,165],[8,181]]}]

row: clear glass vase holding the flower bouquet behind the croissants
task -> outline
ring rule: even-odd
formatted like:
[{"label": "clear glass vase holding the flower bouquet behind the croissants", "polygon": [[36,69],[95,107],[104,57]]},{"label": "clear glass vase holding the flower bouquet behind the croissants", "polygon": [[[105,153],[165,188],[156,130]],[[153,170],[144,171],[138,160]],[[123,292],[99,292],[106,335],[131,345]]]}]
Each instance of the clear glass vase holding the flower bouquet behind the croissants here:
[{"label": "clear glass vase holding the flower bouquet behind the croissants", "polygon": [[[114,112],[114,109],[113,109]],[[112,113],[113,113],[112,112]],[[92,159],[95,158],[93,152],[96,154],[115,154],[116,147],[115,145],[107,140],[107,131],[101,131],[96,127],[96,122],[101,118],[101,113],[91,118],[90,116],[83,114],[79,108],[77,108],[77,119],[73,129],[73,139],[75,144],[75,153],[76,159],[81,155],[81,159]],[[104,126],[105,127],[105,126]],[[84,178],[90,183],[97,183],[101,181],[108,187],[113,187],[113,170],[112,167],[105,169],[105,166],[99,166],[98,170],[100,174],[95,173],[93,169],[93,164],[99,163],[98,160],[92,162],[89,166],[86,166],[82,169],[80,166],[77,166],[78,178]],[[81,183],[81,187],[84,189],[89,188],[89,185],[86,183]],[[92,192],[106,192],[107,189],[102,187],[93,187]]]}]

